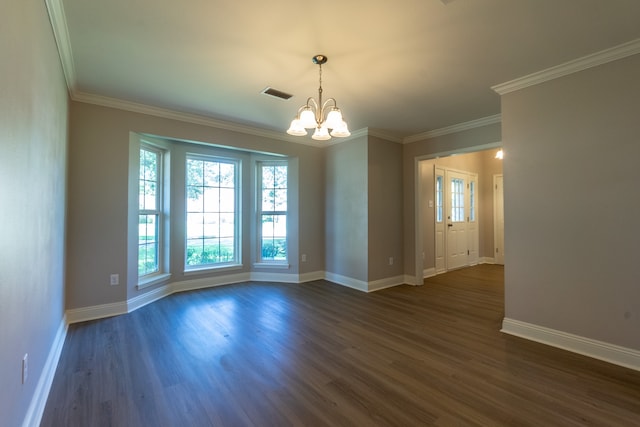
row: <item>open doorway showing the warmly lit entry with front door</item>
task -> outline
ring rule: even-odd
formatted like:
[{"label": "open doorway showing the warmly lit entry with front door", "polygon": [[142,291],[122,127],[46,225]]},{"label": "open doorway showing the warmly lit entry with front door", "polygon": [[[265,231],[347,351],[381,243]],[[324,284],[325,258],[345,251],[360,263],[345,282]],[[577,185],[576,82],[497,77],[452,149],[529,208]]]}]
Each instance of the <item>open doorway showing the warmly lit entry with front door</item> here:
[{"label": "open doorway showing the warmly lit entry with front door", "polygon": [[496,263],[493,177],[502,175],[502,161],[495,153],[491,147],[416,158],[415,253],[422,255],[415,259],[416,284],[448,270]]}]

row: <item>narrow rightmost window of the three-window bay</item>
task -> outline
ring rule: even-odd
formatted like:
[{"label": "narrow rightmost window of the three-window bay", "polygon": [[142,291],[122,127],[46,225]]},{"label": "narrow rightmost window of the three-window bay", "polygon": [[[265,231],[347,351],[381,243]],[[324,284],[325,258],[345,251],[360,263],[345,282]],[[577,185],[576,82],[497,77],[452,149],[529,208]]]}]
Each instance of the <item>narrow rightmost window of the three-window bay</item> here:
[{"label": "narrow rightmost window of the three-window bay", "polygon": [[287,164],[258,163],[259,262],[287,261]]}]

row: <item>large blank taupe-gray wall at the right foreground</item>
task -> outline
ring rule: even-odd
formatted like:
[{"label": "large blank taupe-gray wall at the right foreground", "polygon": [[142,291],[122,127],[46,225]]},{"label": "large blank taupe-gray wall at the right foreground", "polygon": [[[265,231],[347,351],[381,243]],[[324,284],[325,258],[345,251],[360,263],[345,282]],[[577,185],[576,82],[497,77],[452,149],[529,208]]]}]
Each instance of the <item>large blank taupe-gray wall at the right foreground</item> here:
[{"label": "large blank taupe-gray wall at the right foreground", "polygon": [[502,97],[505,316],[640,350],[640,55]]}]

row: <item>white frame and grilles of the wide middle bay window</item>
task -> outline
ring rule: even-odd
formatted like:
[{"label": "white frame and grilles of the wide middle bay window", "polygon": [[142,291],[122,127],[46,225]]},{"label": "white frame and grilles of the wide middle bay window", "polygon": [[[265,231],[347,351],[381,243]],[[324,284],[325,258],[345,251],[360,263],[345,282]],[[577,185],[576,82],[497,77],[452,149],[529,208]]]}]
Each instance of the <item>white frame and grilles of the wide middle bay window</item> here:
[{"label": "white frame and grilles of the wide middle bay window", "polygon": [[[233,185],[234,185],[234,205],[233,205],[233,217],[234,217],[234,225],[233,225],[233,259],[229,260],[229,261],[223,261],[223,262],[215,262],[215,263],[205,263],[205,264],[188,264],[188,260],[189,260],[189,240],[196,240],[194,238],[190,238],[189,237],[189,186],[190,186],[190,179],[189,179],[189,166],[188,163],[190,160],[196,160],[196,161],[203,161],[203,162],[210,162],[210,163],[224,163],[224,164],[231,164],[234,166],[234,179],[233,179]],[[229,267],[238,267],[242,265],[242,236],[241,236],[241,230],[242,230],[242,203],[241,203],[241,198],[242,198],[242,159],[240,158],[235,158],[235,157],[226,157],[226,156],[219,156],[219,155],[215,155],[215,154],[201,154],[201,153],[186,153],[185,156],[185,160],[184,160],[184,165],[185,165],[185,180],[184,180],[184,190],[185,190],[185,194],[184,194],[184,259],[183,259],[183,268],[184,268],[184,272],[185,273],[190,273],[190,272],[199,272],[199,271],[205,271],[205,270],[217,270],[217,269],[224,269],[224,268],[229,268]],[[203,191],[204,188],[207,187],[204,185],[202,185]],[[213,187],[215,188],[215,187]],[[218,185],[218,190],[220,190],[220,185]],[[204,204],[204,200],[203,200],[203,204]],[[191,212],[191,213],[198,213],[198,212]],[[205,215],[207,212],[203,211],[200,212],[202,215]],[[218,207],[218,212],[208,212],[208,213],[217,213],[218,215],[221,214],[220,211],[220,207]],[[220,242],[220,240],[222,239],[221,236],[218,237],[213,237],[214,239],[218,239],[218,242]],[[199,238],[200,240],[205,240],[207,239],[206,235],[204,235],[204,225],[203,225],[203,234],[201,235],[201,237]],[[220,243],[218,243],[220,244]],[[204,245],[204,242],[203,242]]]}]

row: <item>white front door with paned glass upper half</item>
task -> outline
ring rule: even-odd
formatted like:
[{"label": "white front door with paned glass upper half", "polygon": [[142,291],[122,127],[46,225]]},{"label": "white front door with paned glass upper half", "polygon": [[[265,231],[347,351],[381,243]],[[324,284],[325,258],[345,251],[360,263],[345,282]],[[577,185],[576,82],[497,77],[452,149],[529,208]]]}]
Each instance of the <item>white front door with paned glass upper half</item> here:
[{"label": "white front door with paned glass upper half", "polygon": [[447,270],[468,265],[467,174],[445,171]]}]

